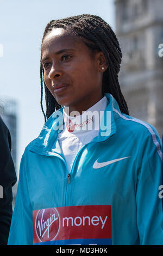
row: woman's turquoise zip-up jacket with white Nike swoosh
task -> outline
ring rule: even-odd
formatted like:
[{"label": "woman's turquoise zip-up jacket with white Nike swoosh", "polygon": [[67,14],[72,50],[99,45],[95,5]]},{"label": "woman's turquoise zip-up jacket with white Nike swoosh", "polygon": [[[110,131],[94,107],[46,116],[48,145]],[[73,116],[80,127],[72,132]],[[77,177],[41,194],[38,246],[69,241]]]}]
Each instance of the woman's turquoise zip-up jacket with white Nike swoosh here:
[{"label": "woman's turquoise zip-up jacket with white Nike swoosh", "polygon": [[63,108],[25,149],[8,245],[163,245],[160,137],[105,95],[99,134],[80,149],[70,174],[58,141]]}]

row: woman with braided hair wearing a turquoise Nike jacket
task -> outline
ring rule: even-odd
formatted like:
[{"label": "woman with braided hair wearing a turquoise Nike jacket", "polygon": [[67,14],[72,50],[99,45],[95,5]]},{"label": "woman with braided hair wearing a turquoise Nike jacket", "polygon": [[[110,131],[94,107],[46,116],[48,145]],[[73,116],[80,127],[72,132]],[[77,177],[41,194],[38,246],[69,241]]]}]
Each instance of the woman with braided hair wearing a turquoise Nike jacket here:
[{"label": "woman with braided hair wearing a turquoise Nike jacket", "polygon": [[9,245],[163,244],[161,141],[129,116],[121,58],[98,16],[46,26],[46,123],[22,156]]}]

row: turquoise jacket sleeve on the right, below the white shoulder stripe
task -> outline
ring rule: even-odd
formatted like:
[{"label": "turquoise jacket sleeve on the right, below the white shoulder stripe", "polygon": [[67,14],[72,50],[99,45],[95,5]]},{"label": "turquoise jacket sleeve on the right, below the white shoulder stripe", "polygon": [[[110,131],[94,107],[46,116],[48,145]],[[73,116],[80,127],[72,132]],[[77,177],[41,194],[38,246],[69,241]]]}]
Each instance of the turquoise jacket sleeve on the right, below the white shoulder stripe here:
[{"label": "turquoise jacket sleeve on the right, below the white shoulder stripe", "polygon": [[163,245],[162,145],[158,133],[148,133],[142,143],[137,175],[137,227],[141,245]]}]

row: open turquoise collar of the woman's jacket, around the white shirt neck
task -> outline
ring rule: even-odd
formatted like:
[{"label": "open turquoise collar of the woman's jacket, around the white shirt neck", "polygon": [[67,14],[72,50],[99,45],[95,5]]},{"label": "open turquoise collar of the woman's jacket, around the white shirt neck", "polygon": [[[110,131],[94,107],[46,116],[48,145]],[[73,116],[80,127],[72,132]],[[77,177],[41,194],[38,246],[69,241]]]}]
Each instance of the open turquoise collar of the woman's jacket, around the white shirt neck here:
[{"label": "open turquoise collar of the woman's jacket, around the white shirt neck", "polygon": [[[114,109],[120,112],[118,103],[111,94],[106,93],[105,96],[109,103],[105,108],[98,136],[93,138],[90,143],[106,141],[106,139],[114,135],[117,130],[117,115],[115,115]],[[29,144],[30,151],[40,155],[54,155],[54,153],[62,155],[58,141],[58,133],[62,131],[64,125],[63,109],[64,107],[58,109],[48,118],[45,125],[43,125],[39,137]]]}]

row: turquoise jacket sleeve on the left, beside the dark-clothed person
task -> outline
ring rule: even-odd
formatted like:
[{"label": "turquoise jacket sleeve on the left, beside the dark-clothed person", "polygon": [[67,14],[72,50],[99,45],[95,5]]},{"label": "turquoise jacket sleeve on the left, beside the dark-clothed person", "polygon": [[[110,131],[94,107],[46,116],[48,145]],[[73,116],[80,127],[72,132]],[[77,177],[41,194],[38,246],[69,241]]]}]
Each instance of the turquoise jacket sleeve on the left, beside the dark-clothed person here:
[{"label": "turquoise jacket sleeve on the left, beside the dark-clothed person", "polygon": [[24,160],[23,155],[8,245],[33,245],[33,211],[29,199]]}]

